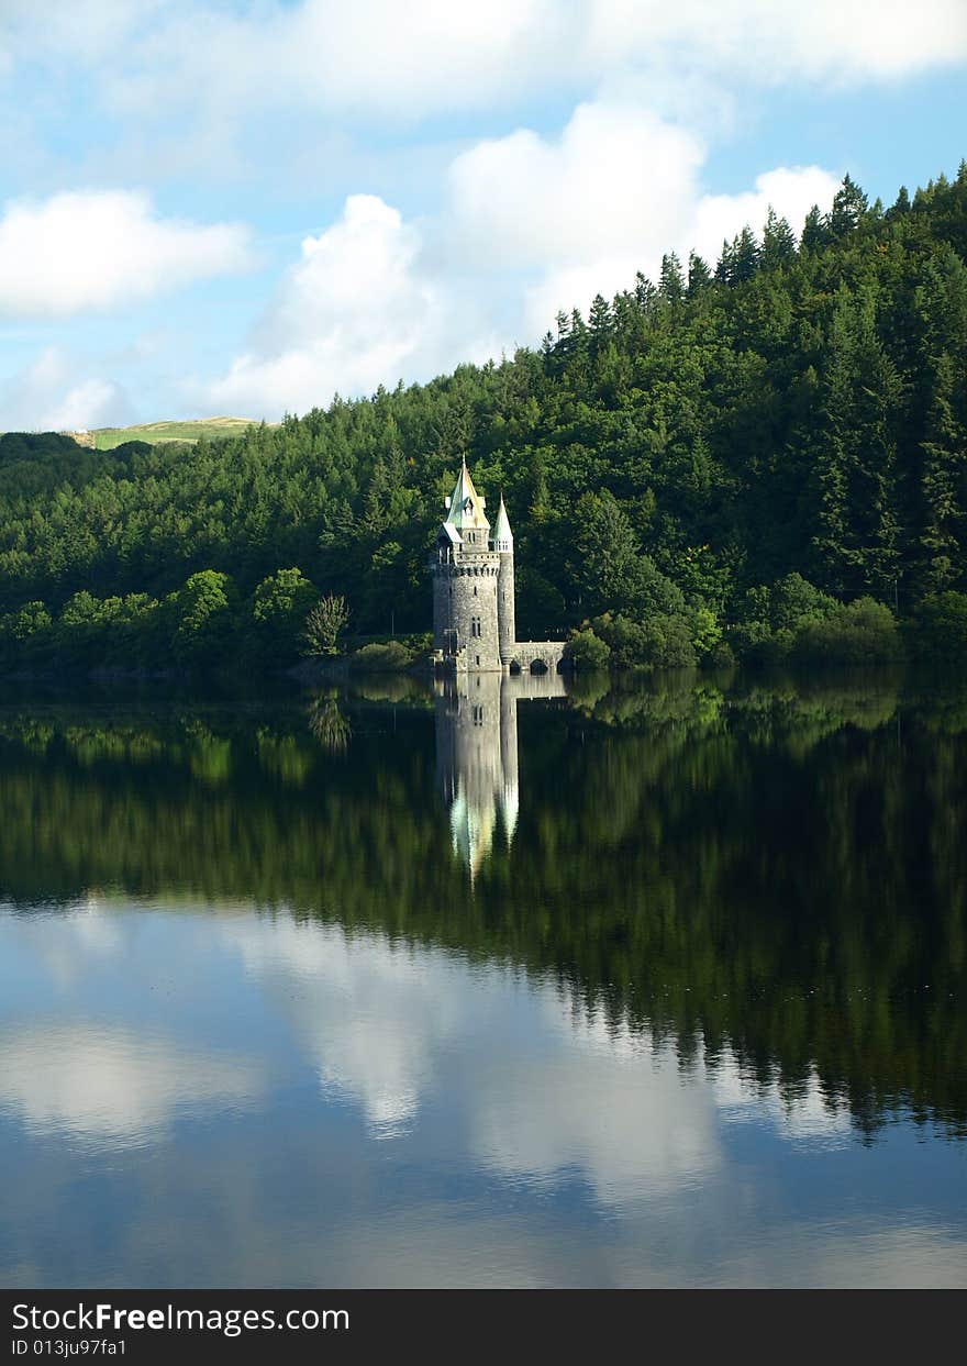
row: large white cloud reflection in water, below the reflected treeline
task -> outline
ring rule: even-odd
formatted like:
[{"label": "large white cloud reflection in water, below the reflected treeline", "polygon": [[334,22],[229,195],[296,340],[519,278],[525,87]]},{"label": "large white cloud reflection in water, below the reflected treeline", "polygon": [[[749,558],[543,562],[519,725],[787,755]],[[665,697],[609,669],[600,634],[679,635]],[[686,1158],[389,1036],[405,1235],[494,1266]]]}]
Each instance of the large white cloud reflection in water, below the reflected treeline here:
[{"label": "large white cloud reflection in water, below the reflected treeline", "polygon": [[[553,1183],[579,1169],[602,1201],[621,1203],[720,1162],[712,1089],[683,1089],[672,1049],[587,1019],[550,984],[496,966],[468,975],[438,949],[340,928],[247,918],[224,933],[275,989],[324,1089],[354,1098],[382,1135],[410,1127],[445,1086],[473,1152],[505,1176]],[[529,1027],[508,1024],[522,1009]],[[490,1040],[486,1057],[479,1038]],[[473,1085],[444,1081],[463,1052]]]}]

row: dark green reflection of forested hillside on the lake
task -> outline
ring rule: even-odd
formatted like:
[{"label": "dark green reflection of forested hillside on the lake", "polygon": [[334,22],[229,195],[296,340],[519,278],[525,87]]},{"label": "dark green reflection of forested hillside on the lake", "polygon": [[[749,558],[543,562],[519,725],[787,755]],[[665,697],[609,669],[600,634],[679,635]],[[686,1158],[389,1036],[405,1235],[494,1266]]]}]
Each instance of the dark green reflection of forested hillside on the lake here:
[{"label": "dark green reflection of forested hillside on the lake", "polygon": [[[518,701],[539,684],[557,695]],[[388,686],[0,709],[0,896],[193,892],[369,926],[550,973],[611,1030],[866,1141],[897,1109],[963,1137],[967,693]]]}]

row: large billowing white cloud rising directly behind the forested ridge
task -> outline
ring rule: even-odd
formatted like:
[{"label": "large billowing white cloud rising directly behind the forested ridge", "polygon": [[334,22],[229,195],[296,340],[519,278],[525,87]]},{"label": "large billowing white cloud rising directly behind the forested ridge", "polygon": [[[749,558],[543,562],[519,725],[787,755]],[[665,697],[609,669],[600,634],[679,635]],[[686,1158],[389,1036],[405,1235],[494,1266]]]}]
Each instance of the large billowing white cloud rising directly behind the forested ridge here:
[{"label": "large billowing white cloud rising directly behind the forested ridge", "polygon": [[795,167],[703,195],[703,161],[694,134],[649,109],[583,104],[557,138],[524,128],[460,153],[443,212],[419,228],[376,195],[350,195],[303,240],[246,350],[190,402],[275,418],[485,361],[534,344],[559,309],[630,288],[636,270],[657,276],[664,251],[714,262],[723,238],[759,228],[769,205],[798,228],[837,186]]}]

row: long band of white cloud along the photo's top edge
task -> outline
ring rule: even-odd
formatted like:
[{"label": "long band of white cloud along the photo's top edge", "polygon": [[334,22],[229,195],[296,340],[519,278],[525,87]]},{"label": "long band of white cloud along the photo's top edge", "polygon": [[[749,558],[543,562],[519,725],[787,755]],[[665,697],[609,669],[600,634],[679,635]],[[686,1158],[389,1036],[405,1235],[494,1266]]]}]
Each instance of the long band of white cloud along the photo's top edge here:
[{"label": "long band of white cloud along the photo's top edge", "polygon": [[[967,59],[963,0],[16,0],[0,27],[15,57],[86,63],[98,92],[153,119],[178,107],[288,105],[372,122],[508,105],[630,70],[718,81],[895,79]],[[3,31],[5,29],[5,33]],[[270,78],[266,79],[266,72]]]}]

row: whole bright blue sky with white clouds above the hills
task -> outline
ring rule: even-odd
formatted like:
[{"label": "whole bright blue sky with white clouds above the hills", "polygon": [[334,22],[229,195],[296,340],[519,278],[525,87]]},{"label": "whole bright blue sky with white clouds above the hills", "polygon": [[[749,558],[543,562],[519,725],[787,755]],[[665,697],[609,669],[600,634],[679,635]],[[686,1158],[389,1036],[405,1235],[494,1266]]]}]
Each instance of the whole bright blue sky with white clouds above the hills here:
[{"label": "whole bright blue sky with white clouds above the hills", "polygon": [[273,421],[955,173],[967,3],[0,0],[0,429]]}]

